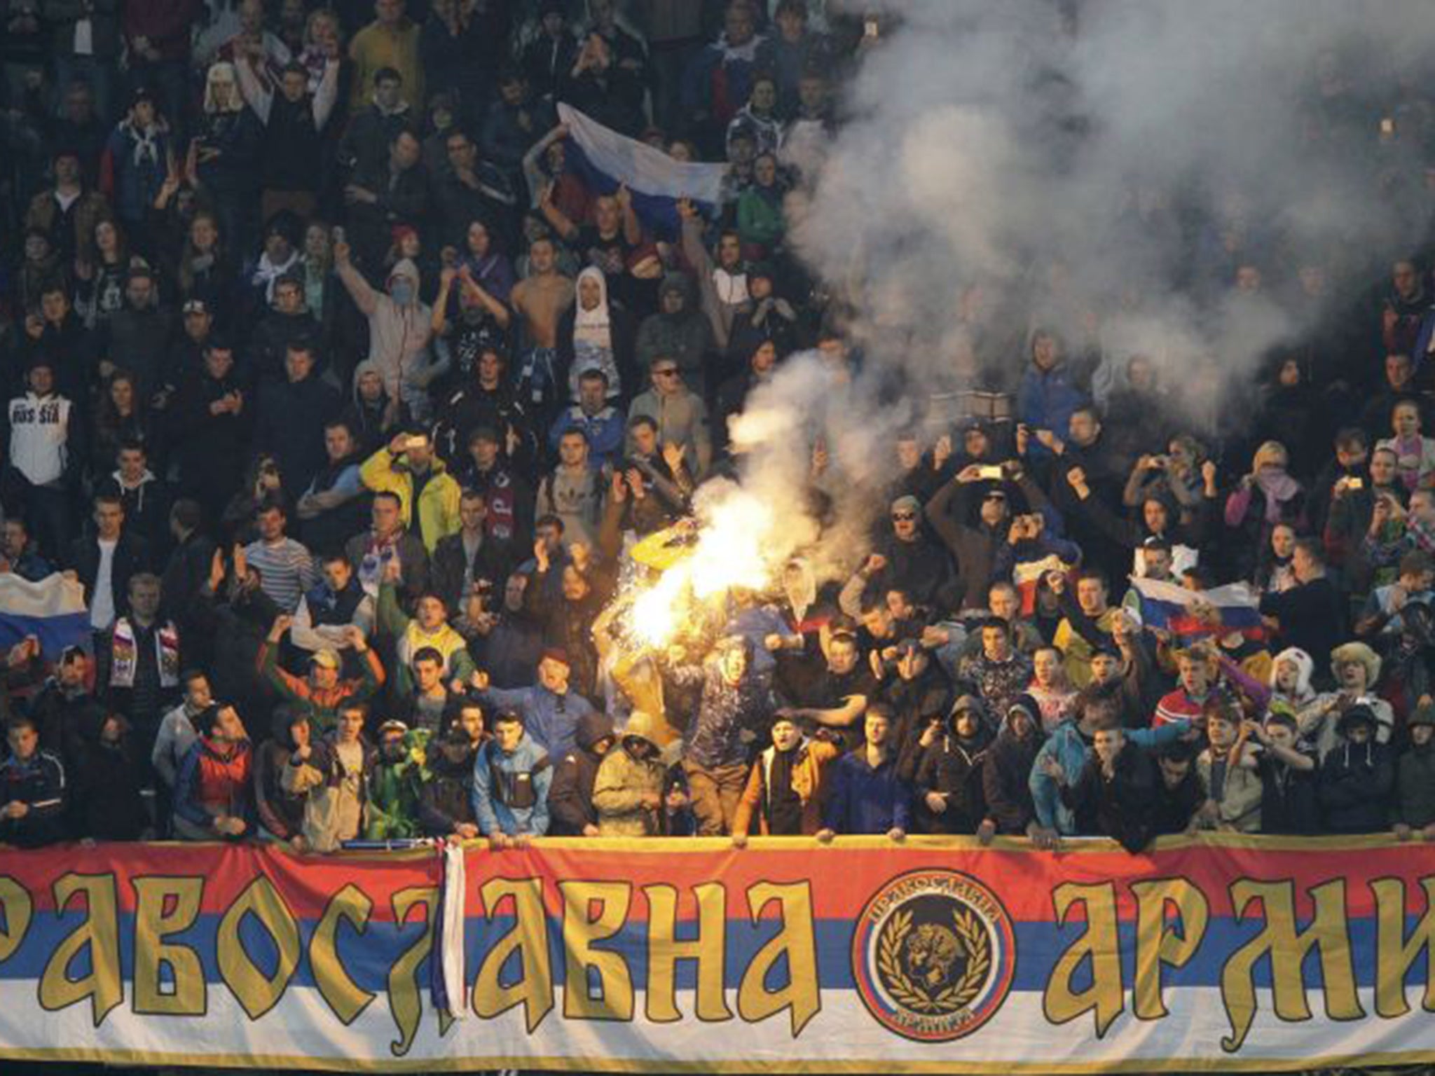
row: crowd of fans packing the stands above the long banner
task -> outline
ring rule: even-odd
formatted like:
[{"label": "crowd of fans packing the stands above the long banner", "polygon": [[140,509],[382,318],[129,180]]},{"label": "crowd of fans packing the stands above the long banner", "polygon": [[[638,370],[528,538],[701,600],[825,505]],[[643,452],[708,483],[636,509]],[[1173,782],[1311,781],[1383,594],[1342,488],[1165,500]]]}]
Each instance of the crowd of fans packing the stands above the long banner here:
[{"label": "crowd of fans packing the stands above the long banner", "polygon": [[[733,469],[729,417],[798,350],[864,363],[785,235],[880,37],[804,0],[419,6],[0,3],[0,570],[70,572],[90,630],[9,653],[0,844],[1435,839],[1428,244],[1366,288],[1240,199],[1142,201],[1192,290],[1327,314],[1205,417],[1101,311],[971,283],[1012,417],[900,435],[848,575],[795,557],[641,647],[641,548]],[[1418,195],[1401,92],[1322,70],[1312,138],[1399,131],[1370,166]],[[725,201],[644,221],[560,102],[725,161]],[[814,445],[806,502],[842,482]],[[1263,623],[1157,630],[1129,577],[1243,581]]]}]

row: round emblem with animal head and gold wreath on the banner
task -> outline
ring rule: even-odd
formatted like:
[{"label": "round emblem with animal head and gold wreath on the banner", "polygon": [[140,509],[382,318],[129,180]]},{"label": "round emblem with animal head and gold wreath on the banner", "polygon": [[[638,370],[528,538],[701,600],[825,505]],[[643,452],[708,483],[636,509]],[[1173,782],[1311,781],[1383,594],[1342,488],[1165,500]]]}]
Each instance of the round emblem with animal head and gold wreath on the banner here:
[{"label": "round emblem with animal head and gold wreath on the banner", "polygon": [[862,1004],[916,1042],[971,1034],[1002,1007],[1015,968],[1012,917],[957,871],[913,871],[887,882],[852,934]]}]

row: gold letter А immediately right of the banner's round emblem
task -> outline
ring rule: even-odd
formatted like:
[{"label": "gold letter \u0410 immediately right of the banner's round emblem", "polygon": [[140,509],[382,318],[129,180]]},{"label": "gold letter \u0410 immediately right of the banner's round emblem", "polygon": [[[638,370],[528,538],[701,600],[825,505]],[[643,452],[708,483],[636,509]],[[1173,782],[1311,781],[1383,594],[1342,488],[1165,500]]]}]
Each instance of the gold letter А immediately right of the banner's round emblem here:
[{"label": "gold letter \u0410 immediately right of the banner's round emblem", "polygon": [[[1079,904],[1086,918],[1086,930],[1076,938],[1052,968],[1042,996],[1046,1019],[1053,1024],[1075,1020],[1083,1013],[1095,1013],[1096,1037],[1101,1039],[1112,1020],[1126,1007],[1121,986],[1121,947],[1116,934],[1116,887],[1111,882],[1078,885],[1066,882],[1052,892],[1058,925],[1065,925],[1072,907]],[[1091,961],[1091,986],[1073,990],[1072,978],[1083,961]]]}]

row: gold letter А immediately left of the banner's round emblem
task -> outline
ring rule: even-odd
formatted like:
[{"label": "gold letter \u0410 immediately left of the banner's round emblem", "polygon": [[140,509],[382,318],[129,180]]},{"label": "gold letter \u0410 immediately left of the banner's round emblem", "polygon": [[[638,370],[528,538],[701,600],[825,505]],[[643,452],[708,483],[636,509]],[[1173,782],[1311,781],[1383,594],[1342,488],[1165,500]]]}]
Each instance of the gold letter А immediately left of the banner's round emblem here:
[{"label": "gold letter \u0410 immediately left of the banner's round emblem", "polygon": [[[748,1023],[766,1020],[784,1009],[791,1010],[792,1037],[822,1009],[817,981],[817,935],[812,928],[812,887],[808,882],[758,882],[748,889],[752,922],[762,921],[762,910],[773,901],[781,908],[781,928],[752,957],[738,986],[738,1016]],[[788,981],[768,990],[768,974],[786,957]]]}]

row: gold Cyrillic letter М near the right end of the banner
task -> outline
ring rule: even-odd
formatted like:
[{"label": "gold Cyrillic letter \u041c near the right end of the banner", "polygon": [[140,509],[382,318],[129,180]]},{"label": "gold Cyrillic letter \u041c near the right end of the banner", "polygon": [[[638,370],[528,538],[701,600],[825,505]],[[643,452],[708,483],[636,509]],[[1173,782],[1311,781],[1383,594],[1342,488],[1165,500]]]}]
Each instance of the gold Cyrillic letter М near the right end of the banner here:
[{"label": "gold Cyrillic letter \u041c near the right end of the banner", "polygon": [[1359,1020],[1365,1016],[1355,991],[1355,967],[1350,938],[1346,934],[1345,879],[1335,878],[1314,887],[1310,900],[1316,915],[1310,925],[1296,930],[1296,887],[1290,881],[1258,882],[1240,878],[1231,882],[1231,908],[1238,920],[1253,901],[1261,902],[1264,922],[1260,933],[1241,945],[1221,968],[1221,997],[1231,1020],[1231,1034],[1221,1039],[1221,1049],[1236,1053],[1246,1042],[1256,1019],[1256,963],[1270,958],[1271,996],[1281,1020],[1309,1020],[1302,961],[1312,948],[1320,954],[1325,983],[1326,1016],[1332,1020]]}]

